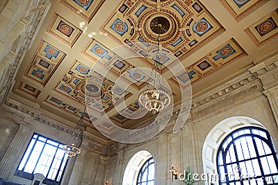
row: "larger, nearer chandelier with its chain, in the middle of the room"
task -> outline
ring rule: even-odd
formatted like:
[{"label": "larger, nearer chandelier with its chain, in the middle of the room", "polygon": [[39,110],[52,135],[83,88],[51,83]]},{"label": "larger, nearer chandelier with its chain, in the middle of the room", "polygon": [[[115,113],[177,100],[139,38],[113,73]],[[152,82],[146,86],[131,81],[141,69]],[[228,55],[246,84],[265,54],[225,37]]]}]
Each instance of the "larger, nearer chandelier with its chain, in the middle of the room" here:
[{"label": "larger, nearer chandelier with its chain, in the middle of the room", "polygon": [[[161,89],[161,78],[163,80],[162,73],[162,64],[159,62],[160,53],[159,53],[159,42],[160,42],[160,34],[161,34],[161,24],[158,24],[158,50],[156,53],[156,57],[154,58],[154,65],[152,66],[152,73],[149,78],[149,82],[147,85],[147,89],[142,91],[139,94],[138,102],[140,105],[145,107],[148,111],[152,112],[152,114],[156,114],[156,112],[160,112],[162,109],[170,105],[171,99],[170,95],[167,91]],[[151,80],[153,83],[151,84]],[[152,87],[150,87],[150,84]]]}]

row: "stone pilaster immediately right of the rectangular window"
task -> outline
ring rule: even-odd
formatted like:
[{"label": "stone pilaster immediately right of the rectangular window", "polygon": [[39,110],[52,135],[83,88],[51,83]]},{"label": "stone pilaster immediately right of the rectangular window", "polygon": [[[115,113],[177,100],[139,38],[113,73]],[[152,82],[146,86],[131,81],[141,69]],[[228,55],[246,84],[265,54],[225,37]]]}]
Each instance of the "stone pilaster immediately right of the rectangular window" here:
[{"label": "stone pilaster immediately right of the rectangular window", "polygon": [[[76,159],[74,162],[74,166],[72,169],[72,174],[70,175],[70,180],[69,183],[70,185],[75,185],[75,184],[79,184],[79,181],[81,179],[82,176],[82,172],[83,172],[83,164],[84,164],[84,160],[85,160],[85,156],[86,156],[87,150],[84,150],[81,148],[81,153],[79,155],[76,155]],[[70,160],[74,160],[74,157],[71,157]]]}]

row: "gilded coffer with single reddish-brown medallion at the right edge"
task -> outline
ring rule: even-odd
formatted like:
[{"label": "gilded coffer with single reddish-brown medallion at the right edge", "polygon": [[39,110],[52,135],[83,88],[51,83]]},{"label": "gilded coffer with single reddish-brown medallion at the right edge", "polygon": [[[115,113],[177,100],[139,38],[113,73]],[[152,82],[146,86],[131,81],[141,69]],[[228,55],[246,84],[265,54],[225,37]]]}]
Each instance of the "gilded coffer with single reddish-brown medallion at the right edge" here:
[{"label": "gilded coffer with single reddish-brown medallion at the right edge", "polygon": [[278,36],[278,9],[245,29],[256,46],[270,42]]}]

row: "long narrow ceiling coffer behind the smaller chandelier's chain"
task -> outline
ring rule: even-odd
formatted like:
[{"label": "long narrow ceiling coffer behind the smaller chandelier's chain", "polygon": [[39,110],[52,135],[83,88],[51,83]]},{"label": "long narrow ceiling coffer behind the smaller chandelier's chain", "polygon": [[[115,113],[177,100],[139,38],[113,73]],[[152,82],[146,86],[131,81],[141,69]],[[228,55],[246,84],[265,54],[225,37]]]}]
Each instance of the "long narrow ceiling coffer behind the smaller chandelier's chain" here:
[{"label": "long narrow ceiling coffer behind the smaller chandelier's chain", "polygon": [[[75,116],[81,117],[81,114],[83,110],[76,109],[76,107],[72,105],[68,105],[67,103],[64,103],[62,100],[59,100],[58,98],[55,98],[54,96],[48,96],[44,102],[49,103],[50,105],[54,105],[55,107],[58,107],[59,109],[63,109],[66,112],[70,112],[71,114],[74,114]],[[88,121],[91,119],[95,119],[94,116],[89,115],[86,111],[84,114],[84,118]]]}]

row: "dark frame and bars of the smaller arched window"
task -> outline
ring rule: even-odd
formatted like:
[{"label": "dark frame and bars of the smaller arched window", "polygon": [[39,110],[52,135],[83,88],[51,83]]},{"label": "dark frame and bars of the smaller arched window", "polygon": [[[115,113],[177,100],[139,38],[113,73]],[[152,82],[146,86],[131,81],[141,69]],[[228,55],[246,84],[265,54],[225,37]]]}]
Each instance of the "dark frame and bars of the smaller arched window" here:
[{"label": "dark frame and bars of the smaller arched window", "polygon": [[[137,185],[141,185],[141,184],[149,184],[149,182],[153,182],[152,184],[154,184],[154,180],[155,180],[155,168],[154,168],[154,176],[153,177],[150,177],[149,179],[149,167],[154,165],[154,158],[151,157],[149,159],[147,159],[147,161],[145,161],[145,163],[142,165],[140,171],[139,171],[139,174],[138,174],[138,177],[137,177]],[[144,175],[144,173],[147,173],[147,181],[144,181],[142,182],[142,177]]]}]

